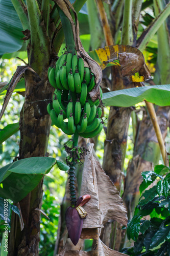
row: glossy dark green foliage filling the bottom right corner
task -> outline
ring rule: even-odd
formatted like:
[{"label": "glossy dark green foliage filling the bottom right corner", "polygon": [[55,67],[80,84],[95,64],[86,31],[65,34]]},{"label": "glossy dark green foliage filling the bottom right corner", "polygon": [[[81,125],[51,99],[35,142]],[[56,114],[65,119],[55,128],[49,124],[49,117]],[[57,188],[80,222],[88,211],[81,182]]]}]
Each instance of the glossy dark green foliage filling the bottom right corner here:
[{"label": "glossy dark green foliage filling the bottom right corner", "polygon": [[[143,172],[140,192],[148,188],[155,179],[157,184],[145,190],[135,208],[134,216],[127,227],[128,239],[134,240],[134,246],[124,248],[128,255],[169,255],[170,252],[170,195],[169,168],[156,165],[154,172]],[[143,199],[144,198],[144,199]],[[150,219],[145,220],[145,216]]]}]

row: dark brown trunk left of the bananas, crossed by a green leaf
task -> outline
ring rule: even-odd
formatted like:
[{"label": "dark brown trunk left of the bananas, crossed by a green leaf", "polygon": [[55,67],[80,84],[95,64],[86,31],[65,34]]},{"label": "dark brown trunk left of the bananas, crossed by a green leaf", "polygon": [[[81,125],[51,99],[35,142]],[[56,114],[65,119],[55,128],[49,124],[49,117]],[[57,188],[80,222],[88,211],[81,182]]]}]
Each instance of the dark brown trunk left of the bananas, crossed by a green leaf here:
[{"label": "dark brown trunk left of the bananas, crossed by a green leaf", "polygon": [[[47,74],[43,79],[31,71],[25,73],[25,103],[20,113],[20,148],[19,158],[47,156],[47,143],[50,134],[51,119],[46,105],[50,102],[53,88],[47,82]],[[43,179],[20,203],[24,228],[21,231],[19,220],[13,213],[9,237],[10,256],[38,255],[40,234],[40,212]]]}]

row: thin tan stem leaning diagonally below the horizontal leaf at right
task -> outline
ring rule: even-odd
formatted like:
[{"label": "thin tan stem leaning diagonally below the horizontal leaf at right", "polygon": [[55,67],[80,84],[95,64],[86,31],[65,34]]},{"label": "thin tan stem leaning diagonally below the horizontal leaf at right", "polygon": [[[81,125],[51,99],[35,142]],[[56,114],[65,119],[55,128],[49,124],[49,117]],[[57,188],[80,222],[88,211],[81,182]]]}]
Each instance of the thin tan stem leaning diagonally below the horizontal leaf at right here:
[{"label": "thin tan stem leaning diagonally below the horizontal leaf at right", "polygon": [[158,143],[159,143],[159,147],[160,147],[160,151],[161,151],[161,154],[162,154],[164,165],[167,166],[168,163],[167,163],[167,158],[166,158],[166,148],[165,148],[165,145],[164,145],[164,142],[163,142],[162,133],[161,133],[161,130],[160,130],[160,127],[159,127],[159,123],[158,123],[158,119],[157,119],[157,116],[156,116],[156,113],[155,113],[154,106],[151,102],[148,102],[146,100],[145,100],[145,103],[147,105],[147,109],[148,109],[148,112],[150,114],[151,121],[153,123],[154,130],[155,130],[155,133],[156,133],[156,137],[158,139]]}]

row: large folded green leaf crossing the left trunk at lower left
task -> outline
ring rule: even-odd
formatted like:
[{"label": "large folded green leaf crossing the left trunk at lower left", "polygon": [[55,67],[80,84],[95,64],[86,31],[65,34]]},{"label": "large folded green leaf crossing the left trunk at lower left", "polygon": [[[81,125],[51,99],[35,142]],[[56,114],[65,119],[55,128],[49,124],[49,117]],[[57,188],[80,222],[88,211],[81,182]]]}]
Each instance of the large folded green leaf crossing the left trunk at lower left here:
[{"label": "large folded green leaf crossing the left trunk at lower left", "polygon": [[51,157],[32,157],[12,162],[0,168],[0,197],[18,202],[40,182],[56,164]]}]

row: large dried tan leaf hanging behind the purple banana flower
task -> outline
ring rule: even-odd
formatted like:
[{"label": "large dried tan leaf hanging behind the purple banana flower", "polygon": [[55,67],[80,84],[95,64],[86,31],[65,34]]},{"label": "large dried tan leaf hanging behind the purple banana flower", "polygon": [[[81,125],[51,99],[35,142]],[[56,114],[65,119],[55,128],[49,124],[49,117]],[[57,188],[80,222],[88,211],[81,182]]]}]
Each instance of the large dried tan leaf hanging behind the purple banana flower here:
[{"label": "large dried tan leaf hanging behind the purple banana flower", "polygon": [[91,200],[84,206],[88,213],[83,228],[102,227],[108,220],[127,225],[127,211],[119,192],[105,174],[101,164],[92,155],[93,144],[85,157],[81,194],[89,194]]}]

